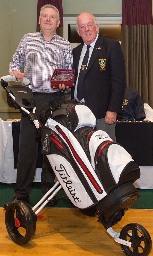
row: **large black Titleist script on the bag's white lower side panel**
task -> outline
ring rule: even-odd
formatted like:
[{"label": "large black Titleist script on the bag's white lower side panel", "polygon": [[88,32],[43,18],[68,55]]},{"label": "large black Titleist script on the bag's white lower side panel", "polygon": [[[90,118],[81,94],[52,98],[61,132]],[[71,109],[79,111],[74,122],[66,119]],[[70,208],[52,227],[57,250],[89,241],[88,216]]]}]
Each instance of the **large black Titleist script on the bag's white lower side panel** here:
[{"label": "large black Titleist script on the bag's white lower side panel", "polygon": [[58,172],[58,174],[60,175],[61,179],[63,180],[63,182],[65,183],[69,193],[71,194],[71,197],[74,199],[74,202],[77,203],[76,201],[79,201],[79,197],[76,196],[76,193],[74,192],[75,189],[72,189],[72,181],[70,180],[70,175],[68,175],[65,167],[63,166],[63,164],[60,164],[60,168],[61,170],[56,170],[56,166],[55,166],[55,170],[56,172]]}]

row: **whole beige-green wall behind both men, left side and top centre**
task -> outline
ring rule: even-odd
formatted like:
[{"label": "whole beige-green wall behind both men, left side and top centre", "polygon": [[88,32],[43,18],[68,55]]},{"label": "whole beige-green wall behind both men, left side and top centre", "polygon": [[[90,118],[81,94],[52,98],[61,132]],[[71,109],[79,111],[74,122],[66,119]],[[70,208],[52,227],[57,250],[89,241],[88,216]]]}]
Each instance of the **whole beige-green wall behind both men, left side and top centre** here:
[{"label": "whole beige-green wall behind both men, left side and top centre", "polygon": [[[153,0],[152,0],[153,2]],[[64,15],[81,12],[120,14],[122,0],[62,0]],[[8,75],[8,66],[24,34],[36,32],[37,0],[0,0],[0,77]],[[0,86],[0,118],[18,119],[20,114],[6,103]]]}]

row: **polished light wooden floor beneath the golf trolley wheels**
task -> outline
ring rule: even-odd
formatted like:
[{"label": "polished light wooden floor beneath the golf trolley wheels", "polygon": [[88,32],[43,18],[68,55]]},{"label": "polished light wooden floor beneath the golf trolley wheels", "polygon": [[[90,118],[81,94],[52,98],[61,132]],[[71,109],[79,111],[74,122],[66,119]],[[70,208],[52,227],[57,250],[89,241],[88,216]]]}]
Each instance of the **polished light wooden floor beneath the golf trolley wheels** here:
[{"label": "polished light wooden floor beneath the golf trolley wheels", "polygon": [[[0,207],[0,256],[124,256],[98,217],[89,217],[77,208],[44,208],[36,223],[35,237],[28,244],[15,244],[5,227],[5,210]],[[129,223],[139,223],[153,241],[153,210],[129,210],[113,229],[120,232]],[[153,251],[150,253],[153,256]]]}]

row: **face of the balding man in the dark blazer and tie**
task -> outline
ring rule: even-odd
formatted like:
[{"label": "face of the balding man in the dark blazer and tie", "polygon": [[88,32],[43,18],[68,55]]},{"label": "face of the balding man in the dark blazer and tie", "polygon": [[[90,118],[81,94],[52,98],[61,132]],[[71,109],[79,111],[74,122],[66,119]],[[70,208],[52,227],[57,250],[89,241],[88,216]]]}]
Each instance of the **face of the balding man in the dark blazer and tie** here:
[{"label": "face of the balding man in the dark blazer and tie", "polygon": [[90,13],[82,13],[78,17],[79,36],[82,37],[85,44],[91,44],[97,37],[98,24],[94,23],[93,17]]}]

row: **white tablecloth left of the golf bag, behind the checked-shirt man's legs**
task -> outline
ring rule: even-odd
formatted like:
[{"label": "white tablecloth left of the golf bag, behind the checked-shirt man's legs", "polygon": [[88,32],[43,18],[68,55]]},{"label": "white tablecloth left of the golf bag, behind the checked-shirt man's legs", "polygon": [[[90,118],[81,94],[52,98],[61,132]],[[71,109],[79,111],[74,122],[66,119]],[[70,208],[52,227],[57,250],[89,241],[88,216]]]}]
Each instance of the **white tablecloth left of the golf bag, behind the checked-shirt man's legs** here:
[{"label": "white tablecloth left of the golf bag, behind the checked-shirt man's legs", "polygon": [[[14,169],[13,156],[12,122],[1,121],[1,119],[0,149],[0,182],[9,184],[16,183],[16,169]],[[40,177],[41,168],[37,168],[34,181],[40,182]]]}]

